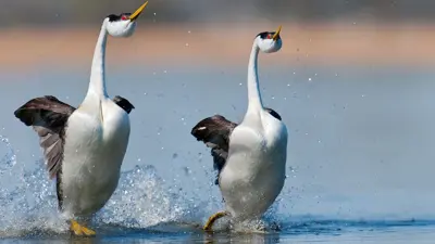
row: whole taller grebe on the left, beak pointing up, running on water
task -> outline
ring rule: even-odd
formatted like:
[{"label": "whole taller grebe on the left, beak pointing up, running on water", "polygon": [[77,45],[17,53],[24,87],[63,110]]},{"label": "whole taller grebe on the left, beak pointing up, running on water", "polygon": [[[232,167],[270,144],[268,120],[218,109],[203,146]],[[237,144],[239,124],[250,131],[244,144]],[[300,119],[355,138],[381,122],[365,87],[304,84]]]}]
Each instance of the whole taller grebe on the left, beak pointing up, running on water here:
[{"label": "whole taller grebe on the left, beak pointing up, running on water", "polygon": [[107,92],[108,38],[130,37],[147,4],[133,14],[104,17],[94,50],[88,90],[76,110],[46,97],[32,100],[15,112],[15,116],[38,131],[50,176],[59,177],[62,214],[70,219],[76,235],[96,234],[75,218],[90,217],[112,196],[129,142],[128,111],[133,107],[119,98],[113,101]]}]

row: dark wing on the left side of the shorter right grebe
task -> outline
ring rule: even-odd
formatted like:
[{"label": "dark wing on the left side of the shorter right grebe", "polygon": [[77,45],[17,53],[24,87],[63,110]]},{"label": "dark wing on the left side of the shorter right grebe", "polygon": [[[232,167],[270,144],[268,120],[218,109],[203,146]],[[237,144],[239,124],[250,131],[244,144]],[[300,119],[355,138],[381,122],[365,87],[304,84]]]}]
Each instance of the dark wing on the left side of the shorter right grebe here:
[{"label": "dark wing on the left side of the shorter right grebe", "polygon": [[[224,116],[214,115],[202,119],[191,129],[191,134],[211,149],[217,179],[228,156],[229,136],[236,126],[236,123],[227,120]],[[217,179],[216,184],[219,184]]]}]

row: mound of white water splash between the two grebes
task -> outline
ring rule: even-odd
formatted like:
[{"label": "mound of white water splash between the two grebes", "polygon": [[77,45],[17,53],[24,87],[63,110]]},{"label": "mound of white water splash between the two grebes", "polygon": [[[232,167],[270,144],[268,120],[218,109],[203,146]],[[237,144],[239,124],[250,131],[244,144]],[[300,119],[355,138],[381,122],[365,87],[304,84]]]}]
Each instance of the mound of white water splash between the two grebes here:
[{"label": "mound of white water splash between the two grebes", "polygon": [[200,220],[201,208],[184,196],[183,190],[167,184],[152,165],[136,165],[122,174],[117,190],[97,221],[142,229],[161,222]]}]

